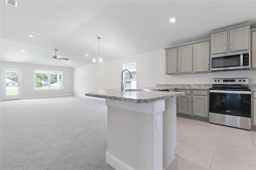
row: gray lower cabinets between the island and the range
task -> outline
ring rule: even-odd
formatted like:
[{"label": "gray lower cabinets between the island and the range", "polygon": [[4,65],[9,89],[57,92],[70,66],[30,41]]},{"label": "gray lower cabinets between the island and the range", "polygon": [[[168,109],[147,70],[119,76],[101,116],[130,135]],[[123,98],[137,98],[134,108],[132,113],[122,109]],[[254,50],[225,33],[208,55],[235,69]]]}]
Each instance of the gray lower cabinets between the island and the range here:
[{"label": "gray lower cabinets between the island and the range", "polygon": [[186,95],[177,97],[177,113],[198,117],[208,117],[208,91],[207,90],[183,90]]}]

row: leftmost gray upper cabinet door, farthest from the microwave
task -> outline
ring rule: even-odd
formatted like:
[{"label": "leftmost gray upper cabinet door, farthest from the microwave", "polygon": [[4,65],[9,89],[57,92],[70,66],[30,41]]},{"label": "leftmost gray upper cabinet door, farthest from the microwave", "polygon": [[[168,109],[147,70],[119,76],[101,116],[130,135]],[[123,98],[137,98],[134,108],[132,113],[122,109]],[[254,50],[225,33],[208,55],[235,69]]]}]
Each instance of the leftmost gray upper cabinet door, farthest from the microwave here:
[{"label": "leftmost gray upper cabinet door, farthest from the microwave", "polygon": [[177,73],[177,48],[166,50],[165,73]]}]

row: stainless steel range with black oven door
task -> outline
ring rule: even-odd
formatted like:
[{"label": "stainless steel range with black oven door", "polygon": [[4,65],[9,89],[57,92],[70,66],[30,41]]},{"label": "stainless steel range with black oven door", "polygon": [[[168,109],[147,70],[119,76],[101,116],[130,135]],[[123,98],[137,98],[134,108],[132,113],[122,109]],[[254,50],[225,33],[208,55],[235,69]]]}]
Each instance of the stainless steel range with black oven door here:
[{"label": "stainless steel range with black oven door", "polygon": [[248,78],[212,79],[209,122],[251,130],[251,90]]}]

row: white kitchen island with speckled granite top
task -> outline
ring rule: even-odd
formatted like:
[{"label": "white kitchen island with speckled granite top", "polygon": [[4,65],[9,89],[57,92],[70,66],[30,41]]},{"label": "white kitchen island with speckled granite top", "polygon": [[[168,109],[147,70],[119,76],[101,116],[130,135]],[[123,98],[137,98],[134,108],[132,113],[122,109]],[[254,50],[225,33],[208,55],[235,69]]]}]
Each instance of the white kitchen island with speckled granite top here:
[{"label": "white kitchen island with speckled granite top", "polygon": [[184,93],[118,90],[85,94],[106,99],[106,162],[115,169],[166,168],[175,158],[176,97]]}]

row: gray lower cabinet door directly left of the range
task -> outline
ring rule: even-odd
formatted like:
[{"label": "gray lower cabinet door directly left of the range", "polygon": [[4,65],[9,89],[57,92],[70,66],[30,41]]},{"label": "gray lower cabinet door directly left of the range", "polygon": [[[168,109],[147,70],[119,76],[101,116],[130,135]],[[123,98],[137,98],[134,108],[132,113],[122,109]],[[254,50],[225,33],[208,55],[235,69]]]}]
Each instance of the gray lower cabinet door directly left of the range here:
[{"label": "gray lower cabinet door directly left of the range", "polygon": [[193,96],[193,115],[208,117],[208,97]]}]

